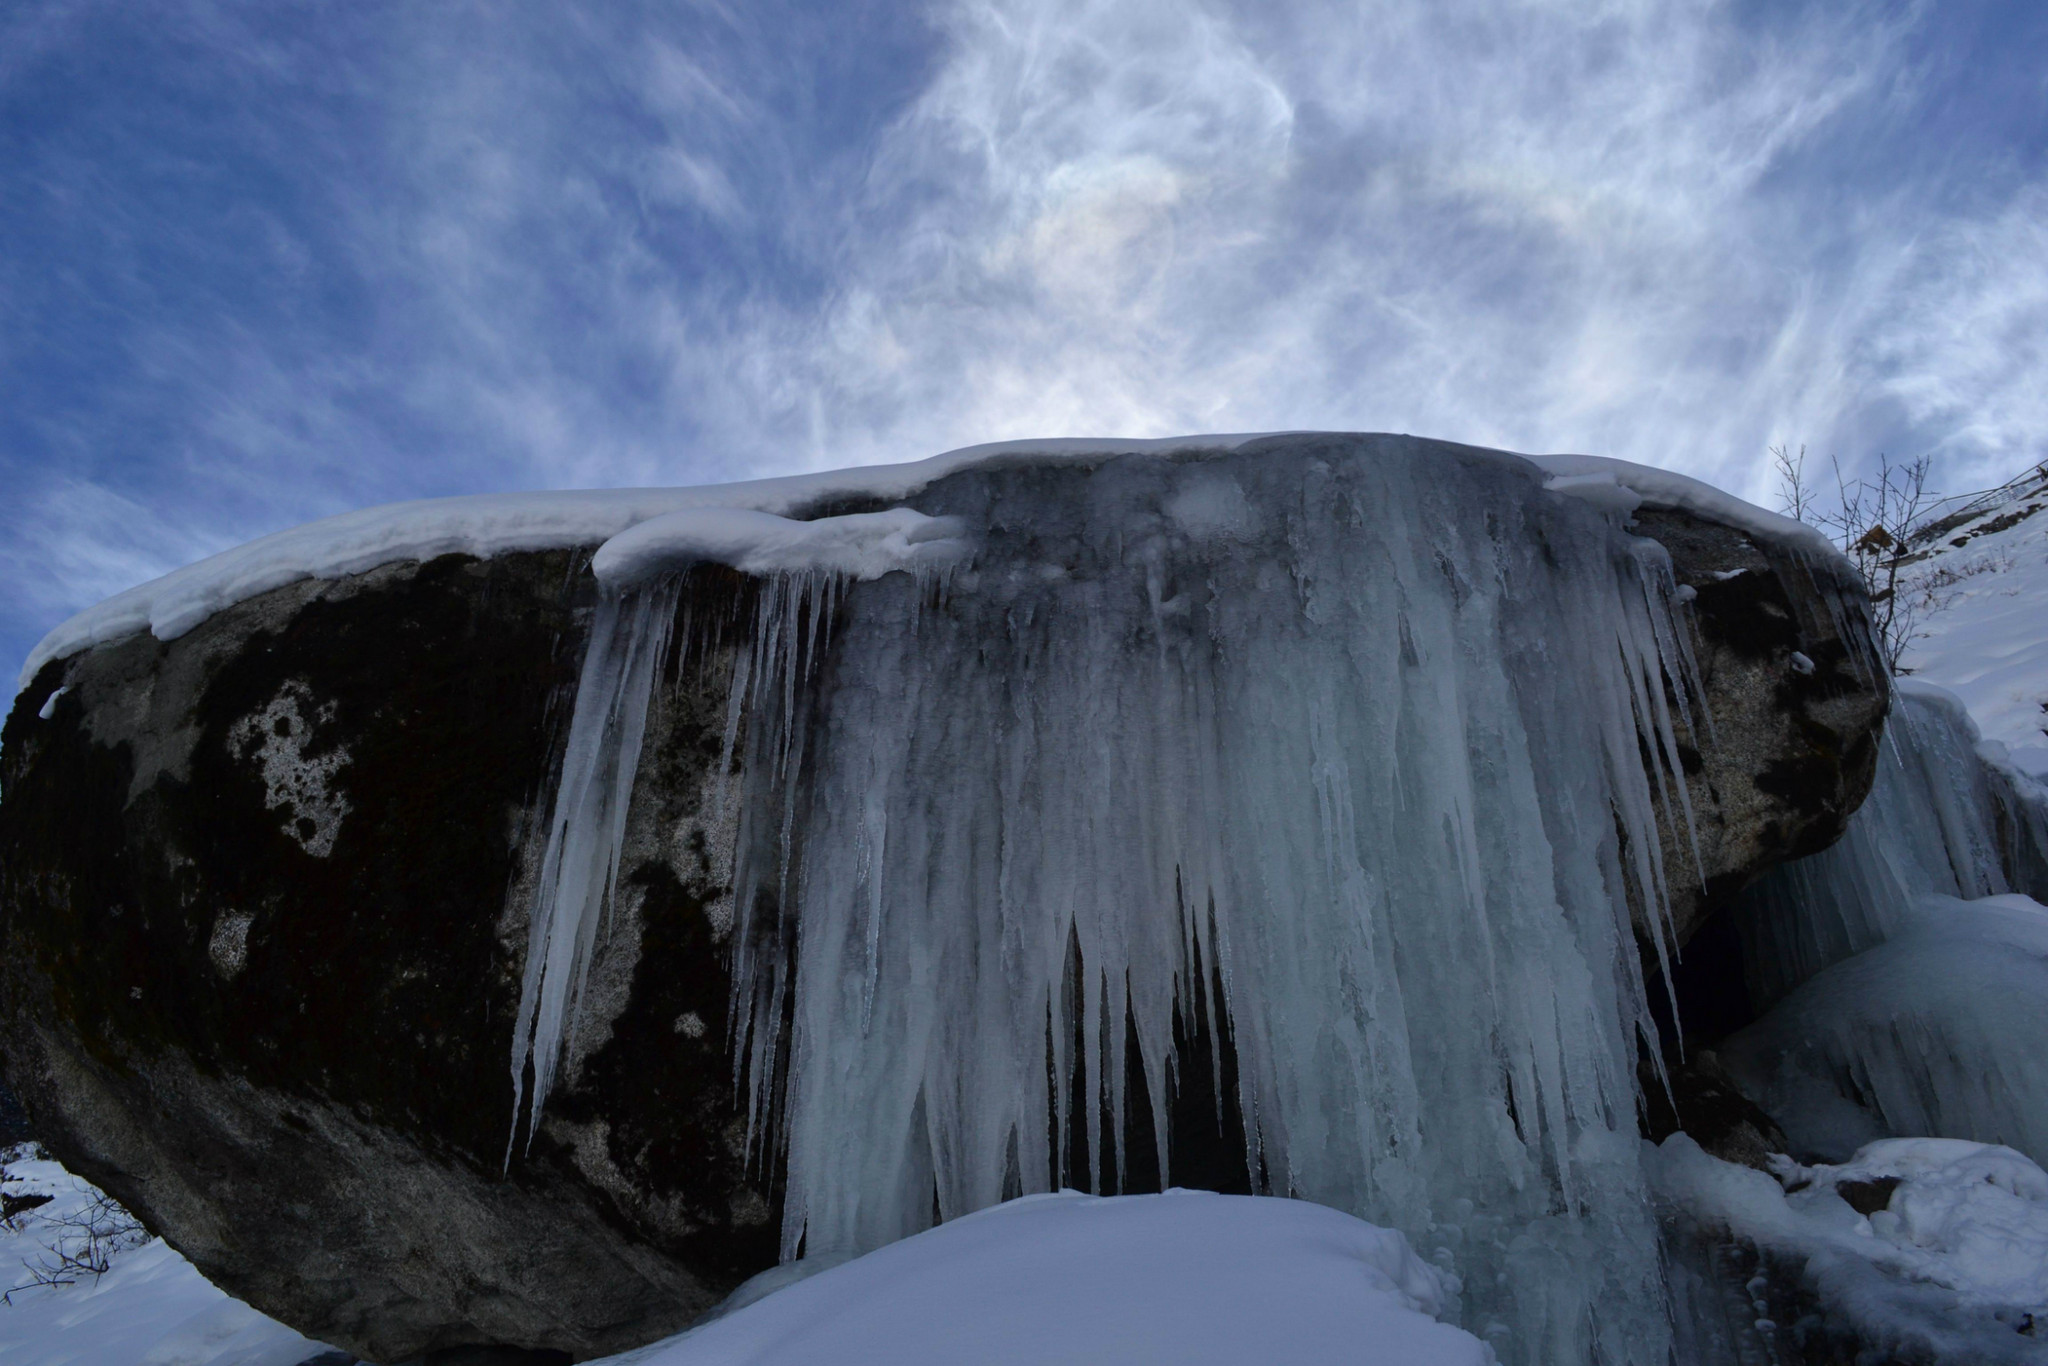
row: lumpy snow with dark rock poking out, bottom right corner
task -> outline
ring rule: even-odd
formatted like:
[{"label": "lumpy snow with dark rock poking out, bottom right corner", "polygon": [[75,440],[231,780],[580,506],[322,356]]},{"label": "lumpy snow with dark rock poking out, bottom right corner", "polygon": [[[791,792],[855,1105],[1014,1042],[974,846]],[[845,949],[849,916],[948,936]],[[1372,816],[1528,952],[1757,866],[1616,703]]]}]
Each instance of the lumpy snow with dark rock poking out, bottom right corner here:
[{"label": "lumpy snow with dark rock poking out, bottom right corner", "polygon": [[1886,1139],[1841,1165],[1782,1159],[1774,1180],[1671,1135],[1645,1165],[1669,1214],[1800,1268],[1866,1350],[2048,1362],[2048,1173],[2009,1147]]}]

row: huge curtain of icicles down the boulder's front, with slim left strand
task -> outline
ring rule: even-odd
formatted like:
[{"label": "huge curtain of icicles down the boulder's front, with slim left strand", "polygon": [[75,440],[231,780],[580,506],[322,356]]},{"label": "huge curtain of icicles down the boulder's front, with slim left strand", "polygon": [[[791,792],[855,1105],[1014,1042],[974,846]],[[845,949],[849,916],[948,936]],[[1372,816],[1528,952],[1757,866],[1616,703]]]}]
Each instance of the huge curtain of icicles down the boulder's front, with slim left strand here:
[{"label": "huge curtain of icicles down the boulder's front, with slim left strand", "polygon": [[[1260,1190],[1403,1229],[1507,1362],[1665,1362],[1630,907],[1663,952],[1698,694],[1663,549],[1524,461],[1399,438],[991,465],[913,504],[977,528],[971,565],[768,575],[731,682],[733,1049],[784,1255],[1100,1182],[1124,1059],[1163,1114],[1202,1001]],[[590,645],[514,1053],[535,1112],[668,584]]]}]

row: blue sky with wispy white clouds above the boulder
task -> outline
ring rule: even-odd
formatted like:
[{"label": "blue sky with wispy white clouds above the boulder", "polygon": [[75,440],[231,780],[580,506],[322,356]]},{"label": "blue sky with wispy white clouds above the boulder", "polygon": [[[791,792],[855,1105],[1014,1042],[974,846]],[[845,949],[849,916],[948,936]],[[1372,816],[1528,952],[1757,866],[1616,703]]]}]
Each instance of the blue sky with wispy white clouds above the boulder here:
[{"label": "blue sky with wispy white clouds above the boulder", "polygon": [[0,666],[348,508],[1006,436],[2048,455],[2048,6],[10,0]]}]

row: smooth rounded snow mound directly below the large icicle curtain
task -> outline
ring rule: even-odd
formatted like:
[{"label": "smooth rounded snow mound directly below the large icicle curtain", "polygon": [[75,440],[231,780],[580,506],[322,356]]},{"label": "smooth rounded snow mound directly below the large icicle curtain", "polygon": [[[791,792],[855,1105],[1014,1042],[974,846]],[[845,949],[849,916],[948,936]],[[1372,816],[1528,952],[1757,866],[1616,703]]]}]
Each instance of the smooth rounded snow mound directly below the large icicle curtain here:
[{"label": "smooth rounded snow mound directly below the large icicle curtain", "polygon": [[[784,1272],[786,1276],[786,1272]],[[606,1366],[1481,1366],[1456,1280],[1319,1204],[1026,1196],[774,1290]]]}]

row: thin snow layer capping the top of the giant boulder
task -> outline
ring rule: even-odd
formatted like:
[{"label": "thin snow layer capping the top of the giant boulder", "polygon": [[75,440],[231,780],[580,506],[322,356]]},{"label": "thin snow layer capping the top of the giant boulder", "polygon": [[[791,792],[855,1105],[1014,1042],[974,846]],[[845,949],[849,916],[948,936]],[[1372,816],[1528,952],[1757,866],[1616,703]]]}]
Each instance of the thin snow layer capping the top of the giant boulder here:
[{"label": "thin snow layer capping the top of the giant boulder", "polygon": [[[477,494],[362,508],[221,551],[78,612],[29,651],[16,686],[29,686],[37,670],[51,659],[63,659],[80,649],[117,641],[139,631],[150,631],[158,639],[170,641],[213,612],[307,578],[346,578],[375,569],[377,565],[432,559],[436,555],[489,557],[510,551],[600,545],[641,522],[678,512],[764,512],[774,518],[791,518],[831,500],[891,502],[911,496],[934,479],[975,465],[1004,461],[1087,463],[1118,455],[1169,455],[1178,451],[1225,453],[1268,436],[1278,434],[1174,436],[1163,440],[1012,440],[965,446],[903,465],[868,465],[702,487]],[[1522,459],[1507,453],[1495,455]],[[1530,459],[1559,479],[1559,492],[1595,498],[1597,502],[1599,492],[1593,485],[1604,483],[1616,489],[1616,494],[1628,489],[1638,502],[1649,506],[1688,508],[1733,522],[1765,541],[1821,555],[1835,553],[1825,537],[1812,528],[1763,512],[1686,475],[1587,455],[1542,455]],[[737,559],[754,553],[750,539],[760,537],[762,530],[764,526],[758,522],[750,526],[748,518],[733,518],[733,524],[719,526],[713,516],[698,516],[670,526],[670,532],[682,532],[680,539],[684,541],[694,539],[707,547],[723,547],[707,553],[707,559],[719,559],[721,563],[737,563]],[[770,532],[770,541],[780,537],[784,549],[795,549],[786,545],[786,528],[766,530]],[[621,561],[629,557],[621,551]],[[791,567],[788,557],[772,563],[778,569]],[[874,561],[866,563],[872,565]]]}]

